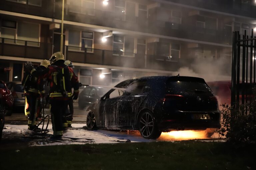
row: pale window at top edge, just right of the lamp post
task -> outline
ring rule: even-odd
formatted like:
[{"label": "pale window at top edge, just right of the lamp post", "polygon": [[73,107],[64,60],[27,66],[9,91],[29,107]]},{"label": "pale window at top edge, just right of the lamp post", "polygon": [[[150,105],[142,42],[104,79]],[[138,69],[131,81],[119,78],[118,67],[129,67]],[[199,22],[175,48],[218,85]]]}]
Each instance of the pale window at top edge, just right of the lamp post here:
[{"label": "pale window at top edge, just right of the lamp post", "polygon": [[69,12],[94,15],[95,0],[75,0],[72,3],[70,1],[67,2]]}]

